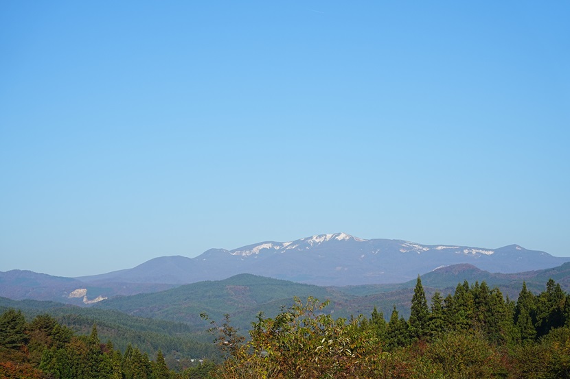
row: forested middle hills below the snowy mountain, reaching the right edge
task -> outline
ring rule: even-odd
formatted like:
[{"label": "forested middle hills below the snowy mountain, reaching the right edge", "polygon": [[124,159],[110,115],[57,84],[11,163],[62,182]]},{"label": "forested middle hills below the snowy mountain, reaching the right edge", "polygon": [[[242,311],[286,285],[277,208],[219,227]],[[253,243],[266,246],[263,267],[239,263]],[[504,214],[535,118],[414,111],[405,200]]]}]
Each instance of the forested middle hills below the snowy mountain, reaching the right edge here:
[{"label": "forested middle hills below the snowy mountain, reaching the right edge", "polygon": [[[422,276],[426,293],[451,293],[458,282],[486,281],[497,286],[505,295],[516,299],[523,280],[534,293],[545,289],[549,278],[557,278],[562,289],[570,289],[570,263],[554,269],[529,271],[521,274],[498,274],[482,271],[471,265],[442,267]],[[294,296],[330,299],[328,311],[337,317],[369,314],[376,306],[388,315],[393,306],[404,317],[409,315],[409,304],[415,280],[402,284],[378,284],[347,287],[321,287],[286,280],[240,274],[226,280],[186,284],[159,293],[115,297],[95,305],[95,308],[120,310],[129,315],[183,321],[199,330],[204,323],[200,313],[220,318],[229,313],[236,325],[248,329],[259,312],[273,317],[282,306],[290,306]]]}]

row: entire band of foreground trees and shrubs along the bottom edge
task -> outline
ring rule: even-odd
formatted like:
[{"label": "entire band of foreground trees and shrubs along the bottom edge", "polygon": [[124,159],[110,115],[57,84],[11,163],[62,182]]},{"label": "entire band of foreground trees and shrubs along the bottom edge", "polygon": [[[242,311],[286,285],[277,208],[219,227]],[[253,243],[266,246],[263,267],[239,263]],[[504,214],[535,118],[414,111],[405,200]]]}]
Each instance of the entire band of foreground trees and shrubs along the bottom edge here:
[{"label": "entire band of foreground trees and shrubs along the bottom edge", "polygon": [[217,365],[169,363],[161,350],[102,342],[99,326],[77,335],[52,316],[27,322],[12,308],[0,315],[0,377],[570,378],[570,295],[554,280],[539,295],[523,284],[516,302],[485,282],[430,300],[418,277],[407,320],[396,308],[389,321],[376,308],[333,319],[313,298],[273,319],[260,314],[248,339],[227,318],[212,323],[225,354]]}]

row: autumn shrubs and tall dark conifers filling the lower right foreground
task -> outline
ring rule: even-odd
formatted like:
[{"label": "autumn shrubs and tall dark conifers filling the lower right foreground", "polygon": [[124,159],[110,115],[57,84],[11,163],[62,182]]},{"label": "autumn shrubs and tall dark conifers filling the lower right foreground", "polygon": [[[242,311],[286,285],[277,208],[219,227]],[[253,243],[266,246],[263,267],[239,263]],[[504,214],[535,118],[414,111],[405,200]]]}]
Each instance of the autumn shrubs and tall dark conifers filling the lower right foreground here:
[{"label": "autumn shrubs and tall dark conifers filling the lower right foreground", "polygon": [[229,378],[569,378],[570,295],[549,280],[517,302],[486,282],[435,293],[418,278],[408,320],[333,319],[309,298],[274,318],[259,315],[249,341],[229,320],[212,330],[227,354],[211,375]]}]

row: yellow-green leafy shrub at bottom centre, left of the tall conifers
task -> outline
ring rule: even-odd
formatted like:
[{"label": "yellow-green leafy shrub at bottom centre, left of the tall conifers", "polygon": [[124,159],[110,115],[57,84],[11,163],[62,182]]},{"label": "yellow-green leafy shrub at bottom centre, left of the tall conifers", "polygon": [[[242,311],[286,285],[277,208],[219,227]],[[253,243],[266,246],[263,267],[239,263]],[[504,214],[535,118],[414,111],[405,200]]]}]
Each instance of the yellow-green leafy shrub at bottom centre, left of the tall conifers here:
[{"label": "yellow-green leafy shrub at bottom centre, left of the tall conifers", "polygon": [[295,298],[275,319],[259,315],[248,343],[227,322],[214,328],[218,345],[229,355],[214,377],[378,377],[381,350],[376,337],[359,330],[359,319],[347,323],[322,313],[327,304],[312,297],[303,304]]}]

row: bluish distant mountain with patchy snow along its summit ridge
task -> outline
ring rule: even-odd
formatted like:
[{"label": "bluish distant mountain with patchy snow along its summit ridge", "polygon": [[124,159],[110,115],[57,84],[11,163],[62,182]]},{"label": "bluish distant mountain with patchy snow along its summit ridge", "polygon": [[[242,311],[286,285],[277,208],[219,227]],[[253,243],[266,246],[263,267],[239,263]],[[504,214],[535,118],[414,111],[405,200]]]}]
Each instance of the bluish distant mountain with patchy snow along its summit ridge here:
[{"label": "bluish distant mountain with patchy snow along its summit ridge", "polygon": [[570,258],[509,245],[498,249],[422,245],[390,239],[359,239],[345,233],[296,241],[264,241],[238,249],[209,249],[196,258],[160,257],[127,270],[79,278],[108,282],[185,284],[238,273],[319,285],[405,282],[438,267],[470,263],[490,272],[515,273],[561,265]]}]

